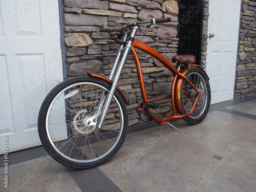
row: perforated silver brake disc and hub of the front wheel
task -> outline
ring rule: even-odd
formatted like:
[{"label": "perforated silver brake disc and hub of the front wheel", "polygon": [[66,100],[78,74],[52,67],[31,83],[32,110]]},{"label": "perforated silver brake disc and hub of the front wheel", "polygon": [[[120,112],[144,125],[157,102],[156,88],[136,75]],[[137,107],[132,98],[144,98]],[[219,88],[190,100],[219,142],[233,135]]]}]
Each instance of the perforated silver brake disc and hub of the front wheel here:
[{"label": "perforated silver brake disc and hub of the front wheel", "polygon": [[89,115],[87,110],[81,110],[79,111],[75,117],[74,117],[74,127],[76,131],[78,131],[81,134],[90,134],[95,129],[96,126],[90,126],[86,123],[86,120],[89,119],[92,115]]}]

